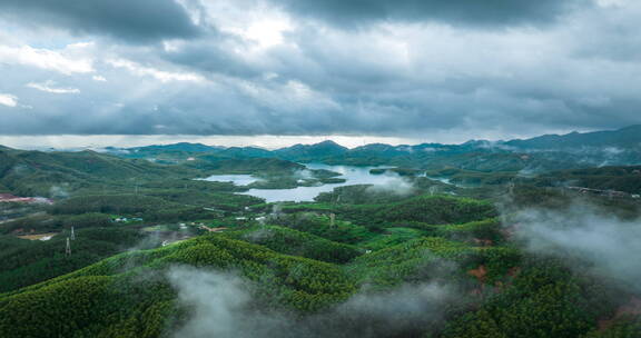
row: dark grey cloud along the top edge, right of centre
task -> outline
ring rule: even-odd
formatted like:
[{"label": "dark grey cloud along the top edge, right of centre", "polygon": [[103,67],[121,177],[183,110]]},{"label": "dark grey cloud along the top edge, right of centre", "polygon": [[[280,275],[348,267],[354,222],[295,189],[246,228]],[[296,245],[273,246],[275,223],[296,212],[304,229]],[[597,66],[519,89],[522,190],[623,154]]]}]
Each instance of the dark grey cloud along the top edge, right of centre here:
[{"label": "dark grey cloud along the top edge, right of centre", "polygon": [[336,26],[372,21],[441,21],[450,24],[506,27],[545,23],[583,0],[270,0],[289,11]]}]

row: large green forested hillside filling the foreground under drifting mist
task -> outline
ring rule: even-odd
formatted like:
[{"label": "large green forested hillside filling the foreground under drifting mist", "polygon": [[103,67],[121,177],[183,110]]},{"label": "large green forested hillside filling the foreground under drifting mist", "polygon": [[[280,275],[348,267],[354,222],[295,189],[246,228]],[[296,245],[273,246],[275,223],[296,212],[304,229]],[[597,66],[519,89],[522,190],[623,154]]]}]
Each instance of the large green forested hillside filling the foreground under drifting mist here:
[{"label": "large green forested hillside filling the foreground under drifting mist", "polygon": [[[424,203],[440,213],[447,209]],[[11,290],[0,295],[0,335],[191,336],[201,326],[229,337],[217,327],[221,322],[234,335],[276,338],[583,337],[620,327],[631,334],[615,337],[639,332],[621,319],[610,330],[598,330],[596,321],[610,318],[623,295],[604,294],[602,280],[563,260],[502,242],[494,220],[422,226],[413,238],[385,245],[381,240],[387,235],[382,235],[368,251],[356,248],[378,235],[352,246],[294,225],[299,230],[239,228],[134,250]],[[402,228],[387,231],[394,229]],[[201,302],[203,297],[210,298]],[[224,321],[210,326],[209,311]],[[208,319],[200,321],[200,316]]]}]

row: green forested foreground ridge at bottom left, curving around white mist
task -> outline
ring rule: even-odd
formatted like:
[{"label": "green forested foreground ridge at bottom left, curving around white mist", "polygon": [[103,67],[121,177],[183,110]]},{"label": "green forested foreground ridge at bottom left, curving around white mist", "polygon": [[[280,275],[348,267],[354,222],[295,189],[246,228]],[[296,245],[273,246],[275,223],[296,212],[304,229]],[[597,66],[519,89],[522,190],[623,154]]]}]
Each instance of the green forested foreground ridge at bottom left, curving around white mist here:
[{"label": "green forested foreground ridge at bottom left, curving around white mist", "polygon": [[180,317],[166,275],[174,265],[236,271],[255,282],[254,302],[298,311],[318,310],[355,290],[336,266],[210,235],[122,254],[0,296],[0,336],[158,337]]}]

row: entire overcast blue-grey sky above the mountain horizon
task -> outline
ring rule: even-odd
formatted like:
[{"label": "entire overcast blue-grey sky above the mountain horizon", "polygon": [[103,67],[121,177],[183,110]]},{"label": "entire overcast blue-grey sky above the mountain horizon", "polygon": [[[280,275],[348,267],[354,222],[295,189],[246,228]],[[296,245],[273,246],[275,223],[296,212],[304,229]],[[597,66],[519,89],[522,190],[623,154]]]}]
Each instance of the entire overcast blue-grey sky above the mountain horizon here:
[{"label": "entire overcast blue-grey sky above the mountain horizon", "polygon": [[615,129],[641,123],[639,18],[639,0],[2,0],[0,143]]}]

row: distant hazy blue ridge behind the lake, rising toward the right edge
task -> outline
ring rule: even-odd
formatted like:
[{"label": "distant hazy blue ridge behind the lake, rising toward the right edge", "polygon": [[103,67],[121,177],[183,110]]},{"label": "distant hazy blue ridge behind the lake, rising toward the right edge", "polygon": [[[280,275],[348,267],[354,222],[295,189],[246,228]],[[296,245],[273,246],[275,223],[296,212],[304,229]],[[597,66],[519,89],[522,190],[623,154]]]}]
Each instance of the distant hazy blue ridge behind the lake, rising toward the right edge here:
[{"label": "distant hazy blue ridge behind the lake, rising toward the right edge", "polygon": [[159,162],[183,162],[209,155],[221,158],[278,158],[298,162],[376,166],[392,165],[425,169],[495,171],[550,170],[594,166],[641,163],[641,126],[612,131],[564,136],[549,135],[525,140],[473,140],[462,145],[421,143],[391,146],[373,143],[347,149],[333,141],[295,145],[277,150],[255,147],[208,147],[203,145],[151,146],[131,149],[107,149],[121,157],[146,158]]}]

